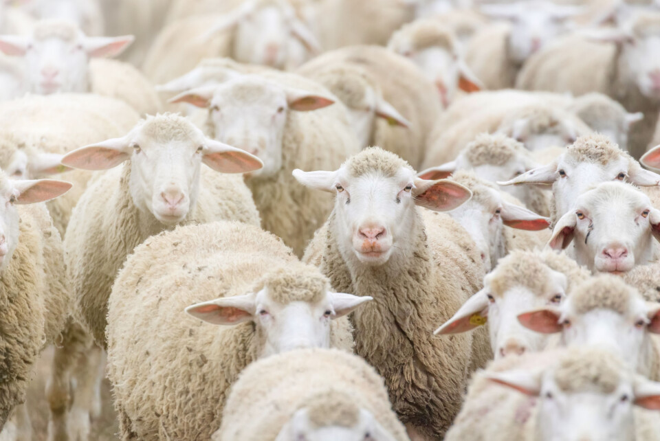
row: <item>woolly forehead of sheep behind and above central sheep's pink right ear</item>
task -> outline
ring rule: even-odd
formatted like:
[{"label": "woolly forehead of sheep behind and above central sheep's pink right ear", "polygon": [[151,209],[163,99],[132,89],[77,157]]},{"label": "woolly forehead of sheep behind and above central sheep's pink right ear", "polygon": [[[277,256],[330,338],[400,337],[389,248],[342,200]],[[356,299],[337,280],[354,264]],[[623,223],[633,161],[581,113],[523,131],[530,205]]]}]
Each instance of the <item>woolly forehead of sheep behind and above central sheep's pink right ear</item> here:
[{"label": "woolly forehead of sheep behind and above central sheep's pink right ear", "polygon": [[492,164],[503,166],[518,155],[526,155],[525,146],[516,139],[505,135],[478,135],[474,141],[467,144],[463,155],[473,167]]}]

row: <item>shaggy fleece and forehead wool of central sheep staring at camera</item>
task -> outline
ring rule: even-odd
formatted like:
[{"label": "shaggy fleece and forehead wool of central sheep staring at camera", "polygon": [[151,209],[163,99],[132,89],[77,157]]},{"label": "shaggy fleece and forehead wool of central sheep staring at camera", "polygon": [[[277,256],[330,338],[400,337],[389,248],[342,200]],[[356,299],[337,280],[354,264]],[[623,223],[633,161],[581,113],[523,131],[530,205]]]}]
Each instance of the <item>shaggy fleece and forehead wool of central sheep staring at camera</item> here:
[{"label": "shaggy fleece and forehead wool of central sheep staring at camera", "polygon": [[[410,168],[380,148],[362,150],[344,165],[353,176]],[[485,364],[492,352],[484,330],[451,337],[433,337],[432,330],[481,289],[483,266],[470,235],[450,216],[416,210],[410,253],[381,266],[347,263],[334,211],[315,240],[325,238],[320,269],[334,289],[373,297],[352,315],[355,352],[384,377],[401,422],[441,439],[460,409],[468,370]]]}]

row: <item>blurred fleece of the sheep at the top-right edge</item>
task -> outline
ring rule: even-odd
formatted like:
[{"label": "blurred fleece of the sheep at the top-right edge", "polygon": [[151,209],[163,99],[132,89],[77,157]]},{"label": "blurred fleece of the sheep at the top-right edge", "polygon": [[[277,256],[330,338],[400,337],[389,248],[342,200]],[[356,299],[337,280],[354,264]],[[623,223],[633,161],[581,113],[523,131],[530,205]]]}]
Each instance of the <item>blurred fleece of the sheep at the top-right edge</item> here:
[{"label": "blurred fleece of the sheep at the top-right edge", "polygon": [[[660,13],[632,16],[630,30],[636,37],[658,34]],[[660,102],[641,94],[633,72],[615,43],[593,43],[571,34],[533,54],[520,71],[516,88],[571,92],[601,92],[620,102],[628,112],[643,112],[644,119],[630,131],[628,151],[640,157],[652,139]]]}]

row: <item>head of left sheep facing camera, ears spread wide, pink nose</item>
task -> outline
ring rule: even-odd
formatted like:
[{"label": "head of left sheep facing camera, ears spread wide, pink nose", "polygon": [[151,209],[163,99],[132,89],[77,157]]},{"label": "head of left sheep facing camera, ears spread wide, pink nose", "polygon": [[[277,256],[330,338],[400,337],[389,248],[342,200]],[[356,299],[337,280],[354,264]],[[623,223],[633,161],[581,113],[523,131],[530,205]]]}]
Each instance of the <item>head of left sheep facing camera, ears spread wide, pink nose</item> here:
[{"label": "head of left sheep facing camera, ears spread wide, pink nose", "polygon": [[197,202],[201,163],[219,172],[249,172],[261,161],[238,148],[206,138],[183,117],[157,115],[128,135],[69,152],[65,165],[107,170],[130,160],[129,190],[138,210],[175,225]]}]

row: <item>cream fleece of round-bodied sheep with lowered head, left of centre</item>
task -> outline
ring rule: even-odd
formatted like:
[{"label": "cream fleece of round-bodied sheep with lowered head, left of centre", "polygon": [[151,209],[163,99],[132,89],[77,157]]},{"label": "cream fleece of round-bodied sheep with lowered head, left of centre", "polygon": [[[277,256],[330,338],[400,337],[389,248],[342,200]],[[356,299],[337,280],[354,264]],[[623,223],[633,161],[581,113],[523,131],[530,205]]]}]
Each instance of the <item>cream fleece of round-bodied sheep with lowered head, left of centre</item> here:
[{"label": "cream fleece of round-bodied sheep with lowered head, left of centre", "polygon": [[[326,280],[276,236],[238,222],[177,227],[135,249],[113,286],[108,314],[108,376],[123,439],[210,438],[230,387],[258,357],[264,337],[252,323],[212,326],[184,308],[254,292],[281,275]],[[302,300],[309,293],[289,295]],[[332,322],[331,346],[352,350],[346,318]]]}]

